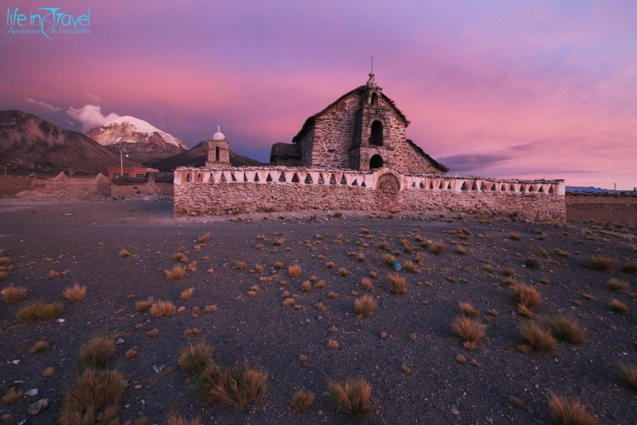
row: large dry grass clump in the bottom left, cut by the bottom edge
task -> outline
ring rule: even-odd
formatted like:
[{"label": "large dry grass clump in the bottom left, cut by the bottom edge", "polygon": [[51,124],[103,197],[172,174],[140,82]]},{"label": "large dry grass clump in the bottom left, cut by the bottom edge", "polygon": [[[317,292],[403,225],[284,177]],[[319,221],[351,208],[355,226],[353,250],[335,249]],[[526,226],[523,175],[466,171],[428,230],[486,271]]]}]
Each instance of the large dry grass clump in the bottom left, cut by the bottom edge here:
[{"label": "large dry grass clump in the bottom left, cut by the bottom edge", "polygon": [[85,369],[66,393],[60,423],[107,423],[116,417],[124,393],[122,374],[116,370]]}]

